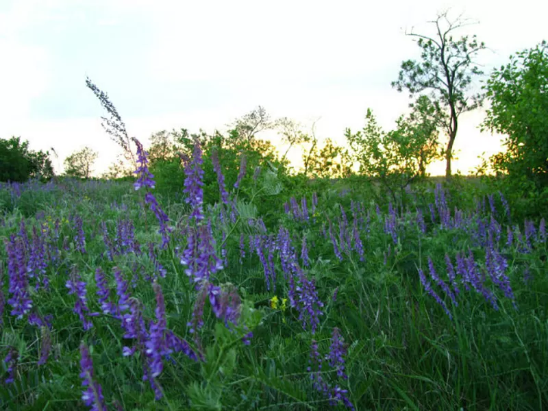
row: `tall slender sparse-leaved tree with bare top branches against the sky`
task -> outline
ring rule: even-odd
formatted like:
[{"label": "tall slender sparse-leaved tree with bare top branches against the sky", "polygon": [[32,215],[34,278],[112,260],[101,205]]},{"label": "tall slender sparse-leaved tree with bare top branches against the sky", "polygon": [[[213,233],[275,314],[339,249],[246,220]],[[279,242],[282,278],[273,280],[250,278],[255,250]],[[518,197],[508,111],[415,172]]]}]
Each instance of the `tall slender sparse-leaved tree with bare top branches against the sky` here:
[{"label": "tall slender sparse-leaved tree with bare top branches against the sky", "polygon": [[462,36],[453,40],[453,32],[466,22],[460,18],[449,21],[447,12],[438,14],[436,20],[430,23],[436,27],[434,36],[412,32],[408,34],[419,39],[417,45],[421,48],[421,60],[402,62],[399,77],[392,82],[392,86],[399,92],[407,89],[410,97],[429,90],[437,108],[447,113],[443,122],[449,136],[445,149],[445,175],[450,177],[459,116],[482,104],[481,93],[467,92],[471,88],[473,77],[483,74],[474,63],[474,58],[479,51],[485,49],[485,45],[477,42],[475,35],[472,38]]}]

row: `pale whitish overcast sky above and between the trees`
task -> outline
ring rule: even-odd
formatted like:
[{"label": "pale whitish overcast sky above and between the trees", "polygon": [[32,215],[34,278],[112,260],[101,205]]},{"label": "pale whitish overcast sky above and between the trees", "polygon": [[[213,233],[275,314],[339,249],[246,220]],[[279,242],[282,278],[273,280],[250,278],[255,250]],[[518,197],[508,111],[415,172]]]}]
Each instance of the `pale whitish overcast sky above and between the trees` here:
[{"label": "pale whitish overcast sky above and between the trees", "polygon": [[[316,135],[342,144],[368,107],[387,129],[407,110],[408,95],[390,86],[419,55],[405,29],[433,34],[427,21],[449,7],[479,23],[458,35],[486,42],[487,73],[547,37],[548,2],[538,0],[0,0],[0,137],[54,147],[61,163],[87,145],[106,169],[118,151],[89,76],[145,144],[162,129],[224,129],[257,105],[319,119]],[[453,169],[499,151],[498,136],[479,134],[482,119],[462,117]]]}]

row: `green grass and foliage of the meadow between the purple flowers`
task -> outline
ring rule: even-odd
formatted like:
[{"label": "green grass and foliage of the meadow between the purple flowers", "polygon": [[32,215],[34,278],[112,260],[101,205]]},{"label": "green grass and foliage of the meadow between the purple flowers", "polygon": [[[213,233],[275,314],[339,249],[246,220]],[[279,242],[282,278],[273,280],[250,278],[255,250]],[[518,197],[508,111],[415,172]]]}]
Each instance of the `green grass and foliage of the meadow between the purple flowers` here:
[{"label": "green grass and foliage of the meadow between the purple flowers", "polygon": [[[449,190],[449,206],[473,212],[473,198],[478,192],[470,182],[462,182],[459,190]],[[94,273],[101,267],[112,287],[112,275],[118,266],[128,282],[137,275],[135,288],[129,292],[142,303],[145,319],[155,318],[155,295],[147,274],[154,271],[147,256],[147,243],[159,242],[158,223],[149,210],[142,209],[143,193],[135,192],[129,183],[64,182],[47,189],[24,190],[21,197],[12,197],[8,189],[0,192],[3,216],[0,217],[0,238],[9,240],[25,220],[27,232],[38,232],[42,224],[53,227],[60,223],[60,237],[55,240],[59,259],[47,268],[50,288],[32,291],[34,310],[41,316],[52,315],[49,360],[38,366],[43,334],[40,327],[29,325],[26,317],[16,320],[6,303],[1,325],[0,357],[10,347],[18,352],[16,378],[12,384],[0,386],[0,408],[5,410],[80,410],[84,409],[79,350],[82,341],[92,348],[95,379],[103,388],[108,409],[119,403],[124,410],[328,410],[331,406],[314,389],[307,371],[312,339],[319,351],[329,352],[334,327],[341,330],[347,343],[345,366],[348,379],[337,377],[335,369],[323,362],[321,375],[331,386],[348,390],[348,397],[358,410],[542,410],[548,406],[548,280],[543,256],[545,242],[536,242],[532,251],[523,253],[519,247],[506,246],[506,224],[497,203],[495,217],[503,227],[499,249],[508,262],[506,274],[516,297],[512,301],[489,279],[486,286],[495,292],[499,310],[493,310],[482,295],[466,291],[460,285],[458,306],[451,304],[441,288],[434,290],[447,303],[453,320],[436,301],[427,295],[419,282],[418,269],[428,275],[427,258],[434,260],[436,271],[447,282],[445,254],[453,259],[458,252],[470,249],[481,269],[484,268],[484,247],[473,242],[466,229],[442,229],[439,221],[429,221],[427,203],[433,201],[426,192],[417,201],[423,209],[427,232],[414,224],[414,203],[410,213],[399,217],[398,243],[395,245],[384,232],[387,204],[380,204],[384,214],[379,219],[371,195],[356,184],[348,183],[350,192],[339,195],[345,183],[324,185],[319,192],[315,222],[294,221],[284,213],[282,199],[292,193],[263,190],[257,194],[249,188],[253,203],[266,201],[271,216],[266,234],[277,234],[280,226],[292,236],[297,256],[301,253],[301,238],[306,236],[310,253],[308,278],[314,279],[323,315],[315,334],[303,328],[299,312],[281,301],[288,297],[289,284],[284,279],[277,251],[273,262],[277,277],[276,290],[267,290],[264,270],[256,252],[249,251],[248,236],[265,234],[249,219],[260,218],[260,209],[240,203],[240,218],[236,223],[221,222],[219,213],[206,208],[212,216],[216,252],[221,256],[223,232],[227,234],[223,248],[227,251],[227,266],[217,273],[215,284],[233,284],[242,298],[242,317],[235,332],[215,319],[206,304],[200,344],[190,334],[187,323],[197,292],[184,273],[179,253],[185,249],[184,232],[188,206],[169,197],[159,197],[160,205],[171,217],[175,227],[169,248],[158,253],[158,260],[167,271],[159,278],[166,301],[167,323],[175,334],[186,338],[201,351],[205,361],[193,362],[182,353],[173,355],[173,362],[164,360],[164,370],[158,377],[164,397],[154,400],[149,382],[142,381],[142,357],[125,358],[120,321],[108,315],[92,317],[93,327],[87,332],[73,312],[75,296],[67,294],[65,286],[73,267],[87,282],[88,305],[98,311]],[[344,187],[343,187],[344,188]],[[248,188],[245,188],[248,189]],[[255,189],[258,190],[258,189]],[[307,188],[310,205],[310,188]],[[463,190],[465,192],[463,192]],[[257,194],[253,197],[253,193]],[[271,194],[271,195],[267,195]],[[297,196],[297,191],[295,191]],[[422,195],[421,195],[422,196]],[[460,197],[459,197],[460,196]],[[469,200],[464,201],[467,198]],[[324,237],[323,223],[327,218],[334,224],[338,238],[340,205],[343,206],[352,229],[350,200],[361,202],[369,212],[370,223],[360,231],[364,246],[364,261],[356,251],[343,253],[339,261],[329,235]],[[297,197],[300,201],[300,195]],[[114,206],[116,202],[117,206]],[[123,204],[123,206],[120,206]],[[300,202],[299,202],[300,204]],[[426,207],[424,207],[426,206]],[[86,253],[76,251],[73,216],[84,221]],[[489,215],[488,207],[482,216]],[[135,227],[135,238],[143,253],[115,256],[110,261],[105,254],[101,222],[114,235],[116,223],[129,219]],[[266,220],[265,220],[266,221]],[[407,222],[406,222],[407,221]],[[521,232],[523,232],[523,222]],[[536,221],[538,227],[538,221]],[[468,231],[467,231],[468,230]],[[240,234],[245,234],[246,255],[240,264]],[[65,247],[64,247],[65,246]],[[388,249],[390,253],[388,255]],[[384,262],[386,256],[386,264]],[[268,258],[268,255],[266,255]],[[299,258],[299,264],[301,260]],[[8,256],[1,247],[3,295],[8,292]],[[527,280],[530,274],[530,279]],[[34,280],[31,279],[31,284]],[[333,299],[335,290],[337,298]],[[271,298],[280,303],[271,307]],[[242,343],[247,327],[253,331],[251,345]],[[0,379],[7,376],[7,364],[0,362]]]}]

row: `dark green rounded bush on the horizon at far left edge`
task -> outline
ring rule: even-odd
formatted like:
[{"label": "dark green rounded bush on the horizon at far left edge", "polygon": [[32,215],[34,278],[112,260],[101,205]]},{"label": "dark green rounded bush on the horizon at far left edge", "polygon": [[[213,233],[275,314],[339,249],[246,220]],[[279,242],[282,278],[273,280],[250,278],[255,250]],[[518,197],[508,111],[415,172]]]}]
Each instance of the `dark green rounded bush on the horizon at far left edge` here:
[{"label": "dark green rounded bush on the horizon at far left edge", "polygon": [[0,138],[0,182],[26,182],[27,179],[46,181],[53,177],[49,152],[29,149],[21,137]]}]

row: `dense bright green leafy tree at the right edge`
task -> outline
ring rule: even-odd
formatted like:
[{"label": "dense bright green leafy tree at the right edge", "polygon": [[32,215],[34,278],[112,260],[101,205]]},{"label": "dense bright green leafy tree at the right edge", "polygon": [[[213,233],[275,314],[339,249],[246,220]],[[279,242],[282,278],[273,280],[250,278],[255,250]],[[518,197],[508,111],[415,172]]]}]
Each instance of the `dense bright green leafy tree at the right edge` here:
[{"label": "dense bright green leafy tree at the right edge", "polygon": [[486,86],[490,102],[482,129],[506,135],[506,151],[491,158],[491,166],[525,196],[544,192],[548,199],[548,45],[510,56],[491,73]]}]

